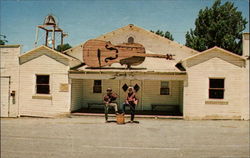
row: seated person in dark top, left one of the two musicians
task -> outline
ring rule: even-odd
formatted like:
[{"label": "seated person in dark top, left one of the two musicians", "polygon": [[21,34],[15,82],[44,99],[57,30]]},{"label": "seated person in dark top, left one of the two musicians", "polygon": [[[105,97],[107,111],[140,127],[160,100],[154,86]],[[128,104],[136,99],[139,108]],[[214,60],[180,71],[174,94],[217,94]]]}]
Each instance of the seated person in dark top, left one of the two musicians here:
[{"label": "seated person in dark top, left one of the two musicians", "polygon": [[117,103],[115,103],[114,101],[117,98],[117,94],[112,92],[111,88],[107,89],[107,94],[104,96],[104,110],[105,110],[105,121],[108,122],[108,110],[109,107],[114,107],[115,108],[115,113],[116,115],[118,114],[118,106]]}]

